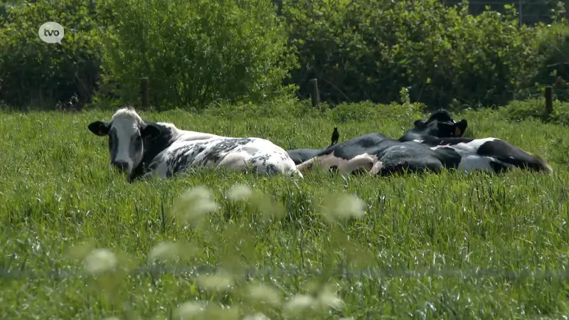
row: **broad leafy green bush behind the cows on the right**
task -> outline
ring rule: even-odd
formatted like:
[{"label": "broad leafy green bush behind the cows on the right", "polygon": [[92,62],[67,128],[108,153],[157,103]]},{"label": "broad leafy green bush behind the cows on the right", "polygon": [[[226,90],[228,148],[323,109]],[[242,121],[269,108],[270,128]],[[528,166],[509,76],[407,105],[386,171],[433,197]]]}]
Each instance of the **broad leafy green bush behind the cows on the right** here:
[{"label": "broad leafy green bush behind the cows on the right", "polygon": [[303,67],[324,101],[389,103],[408,87],[412,100],[447,106],[494,105],[533,85],[541,65],[536,28],[519,28],[515,11],[467,14],[437,0],[286,0],[282,13]]}]

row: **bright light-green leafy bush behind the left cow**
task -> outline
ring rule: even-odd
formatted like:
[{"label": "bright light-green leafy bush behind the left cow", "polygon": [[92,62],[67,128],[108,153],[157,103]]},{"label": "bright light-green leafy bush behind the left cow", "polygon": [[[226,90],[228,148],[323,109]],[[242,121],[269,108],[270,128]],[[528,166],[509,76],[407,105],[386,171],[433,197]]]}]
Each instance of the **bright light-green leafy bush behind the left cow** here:
[{"label": "bright light-green leafy bush behind the left cow", "polygon": [[262,101],[282,92],[294,65],[287,33],[270,0],[113,0],[103,79],[121,84],[122,102],[205,107],[214,101]]}]

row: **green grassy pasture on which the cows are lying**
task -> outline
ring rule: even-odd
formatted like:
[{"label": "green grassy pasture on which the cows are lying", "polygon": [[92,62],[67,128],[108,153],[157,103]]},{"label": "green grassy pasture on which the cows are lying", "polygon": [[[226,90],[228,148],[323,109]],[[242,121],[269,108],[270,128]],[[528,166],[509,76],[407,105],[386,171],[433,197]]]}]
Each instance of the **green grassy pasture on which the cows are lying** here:
[{"label": "green grassy pasture on which the cows are lying", "polygon": [[[340,141],[374,131],[398,138],[418,119],[403,107],[385,110],[383,117],[341,123],[286,112],[140,114],[294,149],[328,145],[335,125]],[[554,176],[344,179],[314,172],[299,180],[204,170],[131,184],[110,171],[107,139],[87,130],[111,115],[0,114],[1,319],[569,313],[566,127],[505,122],[488,111],[453,113],[468,119],[469,136],[499,137],[541,154]],[[115,256],[88,255],[93,248]],[[214,265],[223,272],[204,267]]]}]

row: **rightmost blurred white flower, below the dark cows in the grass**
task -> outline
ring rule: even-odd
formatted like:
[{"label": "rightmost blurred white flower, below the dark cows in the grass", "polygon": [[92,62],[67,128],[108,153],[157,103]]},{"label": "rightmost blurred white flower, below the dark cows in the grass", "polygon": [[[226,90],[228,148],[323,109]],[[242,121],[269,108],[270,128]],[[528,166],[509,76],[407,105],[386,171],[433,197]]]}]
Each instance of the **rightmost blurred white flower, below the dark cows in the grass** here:
[{"label": "rightmost blurred white flower, below the dark cows in the grass", "polygon": [[335,193],[322,199],[319,211],[328,221],[348,218],[362,218],[366,203],[357,196],[346,193]]}]

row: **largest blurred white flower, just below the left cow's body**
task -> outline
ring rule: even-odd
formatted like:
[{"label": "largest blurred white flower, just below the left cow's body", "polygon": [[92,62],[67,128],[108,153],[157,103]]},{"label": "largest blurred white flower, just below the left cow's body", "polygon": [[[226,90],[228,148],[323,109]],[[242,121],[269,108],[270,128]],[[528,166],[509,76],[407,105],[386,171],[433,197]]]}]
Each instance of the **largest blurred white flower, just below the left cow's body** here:
[{"label": "largest blurred white flower, just below the left cow's body", "polygon": [[184,222],[193,223],[217,209],[218,204],[213,198],[213,193],[205,186],[196,186],[176,198],[171,210]]}]

